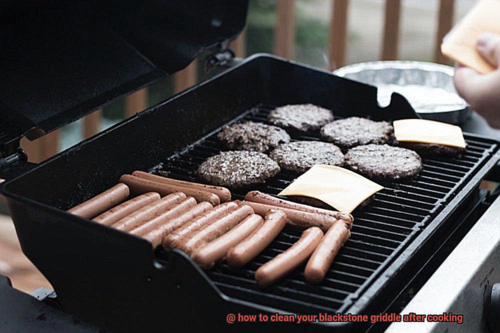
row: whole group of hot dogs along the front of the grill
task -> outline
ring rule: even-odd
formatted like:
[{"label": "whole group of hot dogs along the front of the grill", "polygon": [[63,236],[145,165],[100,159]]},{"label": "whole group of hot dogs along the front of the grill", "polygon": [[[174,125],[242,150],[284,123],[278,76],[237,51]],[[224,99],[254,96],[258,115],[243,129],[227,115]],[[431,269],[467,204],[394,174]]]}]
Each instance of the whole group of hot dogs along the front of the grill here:
[{"label": "whole group of hot dogs along the front of the grill", "polygon": [[[130,194],[134,197],[126,200]],[[307,259],[306,281],[320,282],[350,236],[350,214],[257,191],[249,192],[243,201],[230,199],[229,190],[223,187],[135,171],[68,212],[143,237],[153,248],[162,245],[167,250],[182,250],[203,269],[224,259],[229,266],[244,266],[285,224],[307,228],[295,244],[255,272],[255,281],[262,287]]]}]

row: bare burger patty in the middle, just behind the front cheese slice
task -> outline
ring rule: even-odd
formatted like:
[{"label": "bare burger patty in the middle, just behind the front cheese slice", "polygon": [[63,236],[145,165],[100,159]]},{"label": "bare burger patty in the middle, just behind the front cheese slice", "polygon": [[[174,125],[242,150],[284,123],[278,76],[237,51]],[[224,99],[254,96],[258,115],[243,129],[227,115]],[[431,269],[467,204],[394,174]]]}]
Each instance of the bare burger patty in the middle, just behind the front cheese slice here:
[{"label": "bare burger patty in the middle, just behind the front cheese slice", "polygon": [[285,143],[271,151],[269,157],[282,169],[297,173],[304,173],[314,164],[340,165],[343,161],[340,148],[319,141]]}]

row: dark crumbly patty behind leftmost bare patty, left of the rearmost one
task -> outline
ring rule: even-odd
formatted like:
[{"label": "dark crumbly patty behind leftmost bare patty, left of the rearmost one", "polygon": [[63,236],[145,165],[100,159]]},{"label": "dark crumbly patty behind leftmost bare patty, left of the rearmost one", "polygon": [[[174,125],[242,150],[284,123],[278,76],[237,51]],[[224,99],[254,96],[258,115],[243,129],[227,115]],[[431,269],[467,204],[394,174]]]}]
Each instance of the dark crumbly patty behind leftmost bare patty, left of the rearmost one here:
[{"label": "dark crumbly patty behind leftmost bare patty, left of the rearmost one", "polygon": [[290,136],[283,129],[253,121],[224,126],[217,137],[229,149],[261,153],[290,142]]}]

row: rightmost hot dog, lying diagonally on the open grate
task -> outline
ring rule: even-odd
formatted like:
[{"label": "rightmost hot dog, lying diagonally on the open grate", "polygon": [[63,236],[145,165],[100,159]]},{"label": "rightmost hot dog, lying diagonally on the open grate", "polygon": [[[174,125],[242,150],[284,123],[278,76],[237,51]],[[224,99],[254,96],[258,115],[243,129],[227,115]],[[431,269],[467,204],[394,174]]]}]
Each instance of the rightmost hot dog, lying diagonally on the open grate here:
[{"label": "rightmost hot dog, lying diagonally on the open grate", "polygon": [[320,283],[324,279],[331,262],[350,237],[351,227],[350,221],[338,220],[328,229],[305,266],[305,281]]}]

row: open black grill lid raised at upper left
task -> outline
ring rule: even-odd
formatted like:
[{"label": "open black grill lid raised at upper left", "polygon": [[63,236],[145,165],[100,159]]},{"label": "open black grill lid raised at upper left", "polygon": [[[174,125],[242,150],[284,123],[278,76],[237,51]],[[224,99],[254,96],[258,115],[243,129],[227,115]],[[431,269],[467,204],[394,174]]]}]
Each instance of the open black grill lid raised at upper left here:
[{"label": "open black grill lid raised at upper left", "polygon": [[[227,45],[248,0],[2,1],[0,157]],[[128,3],[131,2],[131,3]]]}]

